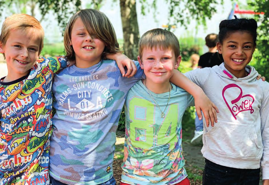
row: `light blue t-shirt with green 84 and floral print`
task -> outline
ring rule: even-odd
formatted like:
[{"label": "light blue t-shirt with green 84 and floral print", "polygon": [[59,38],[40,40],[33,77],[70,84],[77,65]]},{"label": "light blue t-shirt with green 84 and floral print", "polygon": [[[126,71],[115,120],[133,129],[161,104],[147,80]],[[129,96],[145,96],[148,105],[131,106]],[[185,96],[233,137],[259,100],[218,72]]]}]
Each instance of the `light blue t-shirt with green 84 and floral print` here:
[{"label": "light blue t-shirt with green 84 and floral print", "polygon": [[172,84],[169,92],[151,92],[142,81],[128,92],[125,101],[126,131],[121,181],[127,184],[175,184],[187,177],[182,156],[182,116],[193,96]]}]

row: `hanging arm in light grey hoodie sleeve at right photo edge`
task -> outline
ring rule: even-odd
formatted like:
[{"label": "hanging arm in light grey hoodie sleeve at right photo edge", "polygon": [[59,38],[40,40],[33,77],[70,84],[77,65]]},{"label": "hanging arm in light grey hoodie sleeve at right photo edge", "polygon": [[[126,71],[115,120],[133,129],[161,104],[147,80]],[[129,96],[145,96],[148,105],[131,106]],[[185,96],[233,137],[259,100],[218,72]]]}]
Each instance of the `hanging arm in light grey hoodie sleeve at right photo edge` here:
[{"label": "hanging arm in light grey hoodie sleeve at right photo edge", "polygon": [[262,159],[261,159],[261,167],[262,167],[262,179],[265,180],[265,183],[269,184],[269,83],[261,82],[262,84],[266,84],[267,88],[263,89],[264,98],[260,107],[260,116],[261,116],[261,133],[262,133],[262,144],[264,146]]}]

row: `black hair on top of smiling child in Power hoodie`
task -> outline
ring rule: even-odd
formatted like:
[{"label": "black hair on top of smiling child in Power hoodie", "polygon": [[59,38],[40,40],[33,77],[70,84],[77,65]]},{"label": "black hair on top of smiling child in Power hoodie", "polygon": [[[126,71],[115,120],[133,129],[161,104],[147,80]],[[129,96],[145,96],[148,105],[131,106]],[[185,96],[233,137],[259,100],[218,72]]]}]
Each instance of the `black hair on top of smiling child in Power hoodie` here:
[{"label": "black hair on top of smiling child in Power hoodie", "polygon": [[219,23],[219,42],[222,44],[223,40],[232,32],[246,31],[253,37],[254,45],[257,40],[257,22],[254,19],[235,19],[223,20]]}]

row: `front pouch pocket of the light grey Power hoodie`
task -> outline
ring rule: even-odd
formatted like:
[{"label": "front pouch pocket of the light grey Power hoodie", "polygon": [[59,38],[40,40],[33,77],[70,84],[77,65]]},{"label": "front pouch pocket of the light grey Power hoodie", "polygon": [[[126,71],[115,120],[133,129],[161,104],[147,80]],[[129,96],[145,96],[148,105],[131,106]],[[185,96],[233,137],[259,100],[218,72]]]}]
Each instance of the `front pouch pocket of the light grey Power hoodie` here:
[{"label": "front pouch pocket of the light grey Power hoodie", "polygon": [[262,141],[254,125],[234,122],[219,122],[204,134],[210,150],[236,157],[262,157]]}]

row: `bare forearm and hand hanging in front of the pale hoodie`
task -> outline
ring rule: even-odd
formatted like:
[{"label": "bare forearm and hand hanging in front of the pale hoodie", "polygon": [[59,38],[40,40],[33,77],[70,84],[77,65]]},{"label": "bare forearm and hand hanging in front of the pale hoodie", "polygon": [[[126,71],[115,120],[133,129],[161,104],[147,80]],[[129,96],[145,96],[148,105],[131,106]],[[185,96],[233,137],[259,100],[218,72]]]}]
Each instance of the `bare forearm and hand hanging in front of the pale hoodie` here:
[{"label": "bare forearm and hand hanging in front of the pale hoodie", "polygon": [[214,121],[217,122],[216,111],[219,112],[219,110],[215,104],[209,100],[203,90],[176,69],[174,70],[174,74],[170,81],[178,87],[181,87],[185,91],[189,92],[194,97],[195,108],[199,119],[202,118],[202,110],[205,116],[206,125],[209,126],[210,120],[211,126],[214,126]]}]

